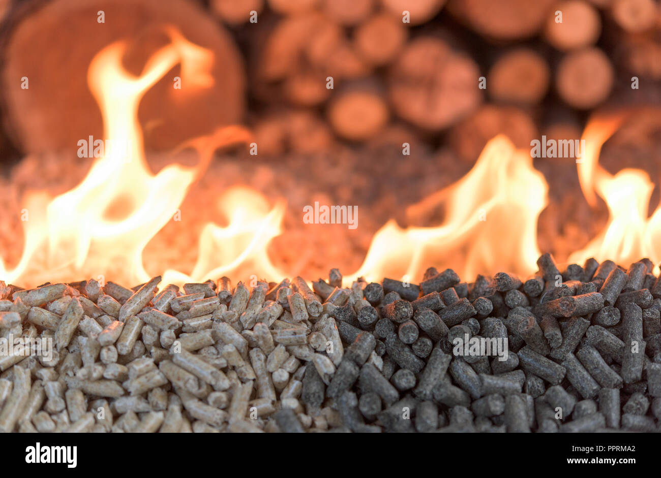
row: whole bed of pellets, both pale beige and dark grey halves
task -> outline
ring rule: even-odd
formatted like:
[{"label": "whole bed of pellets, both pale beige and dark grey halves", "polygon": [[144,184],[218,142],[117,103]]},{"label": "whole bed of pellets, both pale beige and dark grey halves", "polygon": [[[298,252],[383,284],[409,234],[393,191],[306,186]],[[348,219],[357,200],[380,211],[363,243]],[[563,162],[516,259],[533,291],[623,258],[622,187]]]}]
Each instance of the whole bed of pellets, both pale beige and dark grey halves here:
[{"label": "whole bed of pellets, both pale beige and dark grey halves", "polygon": [[[652,262],[537,265],[344,288],[337,269],[312,288],[0,283],[0,431],[658,430]],[[8,352],[17,337],[54,349]]]}]

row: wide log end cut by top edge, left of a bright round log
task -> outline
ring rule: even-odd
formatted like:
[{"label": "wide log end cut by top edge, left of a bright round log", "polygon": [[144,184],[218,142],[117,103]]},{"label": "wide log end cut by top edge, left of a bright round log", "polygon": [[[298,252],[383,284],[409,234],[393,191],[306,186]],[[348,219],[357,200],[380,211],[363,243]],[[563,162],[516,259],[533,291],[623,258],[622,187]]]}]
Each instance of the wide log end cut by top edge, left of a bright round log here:
[{"label": "wide log end cut by top edge, left of a bright round log", "polygon": [[447,9],[479,34],[498,40],[535,35],[555,0],[450,0]]}]

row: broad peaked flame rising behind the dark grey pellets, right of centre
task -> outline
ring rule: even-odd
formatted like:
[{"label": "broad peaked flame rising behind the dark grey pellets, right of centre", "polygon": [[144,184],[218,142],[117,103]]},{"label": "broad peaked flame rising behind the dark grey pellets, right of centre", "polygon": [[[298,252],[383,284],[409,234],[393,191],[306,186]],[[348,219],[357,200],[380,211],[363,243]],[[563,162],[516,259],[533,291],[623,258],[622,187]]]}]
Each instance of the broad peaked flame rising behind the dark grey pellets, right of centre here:
[{"label": "broad peaked flame rising behind the dark grey pellets, right of centre", "polygon": [[517,150],[504,136],[495,137],[461,180],[407,212],[418,217],[439,205],[446,219],[438,227],[385,224],[356,276],[415,280],[430,265],[451,267],[460,277],[535,270],[537,217],[547,205],[547,184],[528,151]]}]

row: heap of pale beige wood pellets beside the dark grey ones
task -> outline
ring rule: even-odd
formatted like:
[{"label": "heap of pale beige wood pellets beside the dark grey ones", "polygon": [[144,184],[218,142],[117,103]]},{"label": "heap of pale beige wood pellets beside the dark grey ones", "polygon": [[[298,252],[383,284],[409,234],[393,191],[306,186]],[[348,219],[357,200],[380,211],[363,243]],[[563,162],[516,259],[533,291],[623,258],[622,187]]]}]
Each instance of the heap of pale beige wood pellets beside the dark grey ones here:
[{"label": "heap of pale beige wood pellets beside the dark grey ones", "polygon": [[328,385],[342,359],[332,304],[303,279],[160,281],[0,282],[0,432],[278,432],[282,409],[306,431],[342,425],[299,402],[306,366]]}]

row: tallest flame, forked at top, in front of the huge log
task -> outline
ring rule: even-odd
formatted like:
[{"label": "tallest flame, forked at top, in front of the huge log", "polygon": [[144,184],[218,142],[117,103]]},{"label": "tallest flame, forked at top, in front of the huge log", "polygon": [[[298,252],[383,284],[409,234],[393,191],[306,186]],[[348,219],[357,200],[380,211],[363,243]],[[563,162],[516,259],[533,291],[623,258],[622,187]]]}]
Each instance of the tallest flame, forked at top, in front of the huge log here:
[{"label": "tallest flame, forked at top, in front of the huge log", "polygon": [[[111,44],[91,61],[88,83],[102,112],[104,154],[76,188],[51,201],[44,193],[26,197],[29,217],[24,221],[22,257],[12,270],[0,261],[0,275],[7,281],[38,285],[98,276],[126,284],[147,281],[142,253],[149,240],[173,219],[214,150],[249,137],[238,127],[220,129],[184,145],[200,153],[197,166],[171,164],[155,175],[149,171],[137,120],[142,96],[178,63],[182,82],[190,88],[214,84],[209,74],[213,53],[188,42],[174,28],[166,32],[171,42],[147,61],[139,77],[122,68],[126,42]],[[234,228],[240,226],[228,230]],[[219,235],[217,230],[203,234]],[[196,273],[203,268],[198,264]]]}]

